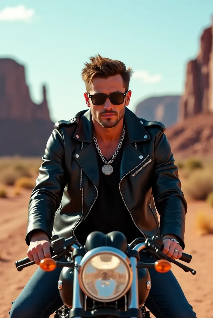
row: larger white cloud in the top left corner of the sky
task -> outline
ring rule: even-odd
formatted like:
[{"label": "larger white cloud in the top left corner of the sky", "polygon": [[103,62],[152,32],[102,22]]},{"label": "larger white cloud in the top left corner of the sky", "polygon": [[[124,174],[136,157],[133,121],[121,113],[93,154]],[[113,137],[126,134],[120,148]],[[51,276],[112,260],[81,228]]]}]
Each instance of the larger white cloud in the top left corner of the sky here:
[{"label": "larger white cloud in the top left corner of the sky", "polygon": [[1,21],[30,21],[34,16],[33,9],[26,9],[23,5],[17,7],[5,7],[0,11]]}]

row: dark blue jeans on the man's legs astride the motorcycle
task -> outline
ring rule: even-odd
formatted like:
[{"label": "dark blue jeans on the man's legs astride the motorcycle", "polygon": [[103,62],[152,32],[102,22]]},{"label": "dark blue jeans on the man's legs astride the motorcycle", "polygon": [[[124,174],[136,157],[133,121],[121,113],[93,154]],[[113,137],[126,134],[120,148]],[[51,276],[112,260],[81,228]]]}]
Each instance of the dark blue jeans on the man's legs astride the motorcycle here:
[{"label": "dark blue jeans on the man's legs astride the motorcycle", "polygon": [[[140,260],[154,262],[144,252],[141,252]],[[196,318],[171,271],[160,274],[150,268],[149,272],[152,288],[145,306],[156,318]],[[60,267],[53,272],[44,272],[38,268],[18,298],[12,302],[10,318],[48,318],[60,308],[63,305],[57,287],[60,273]]]}]

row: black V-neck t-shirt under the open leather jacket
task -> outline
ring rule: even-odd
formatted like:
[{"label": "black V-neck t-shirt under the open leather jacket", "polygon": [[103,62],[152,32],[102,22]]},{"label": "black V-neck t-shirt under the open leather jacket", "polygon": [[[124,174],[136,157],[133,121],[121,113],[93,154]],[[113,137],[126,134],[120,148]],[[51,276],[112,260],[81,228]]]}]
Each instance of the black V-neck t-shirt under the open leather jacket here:
[{"label": "black V-neck t-shirt under the open leather jacket", "polygon": [[103,174],[101,169],[105,163],[98,152],[96,153],[100,175],[98,197],[87,218],[75,230],[75,235],[81,244],[85,243],[87,236],[93,231],[100,231],[105,234],[112,231],[123,232],[128,243],[142,236],[134,225],[119,191],[120,163],[125,139],[118,155],[111,163],[113,167],[111,175]]}]

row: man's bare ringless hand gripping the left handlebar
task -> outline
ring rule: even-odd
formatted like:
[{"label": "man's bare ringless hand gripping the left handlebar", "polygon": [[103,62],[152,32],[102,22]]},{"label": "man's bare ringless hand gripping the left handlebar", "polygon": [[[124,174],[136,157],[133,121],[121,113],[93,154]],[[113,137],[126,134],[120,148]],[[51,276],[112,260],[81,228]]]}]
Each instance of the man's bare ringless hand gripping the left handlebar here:
[{"label": "man's bare ringless hand gripping the left handlebar", "polygon": [[27,256],[39,265],[42,259],[51,257],[50,246],[48,235],[43,231],[36,231],[31,236]]}]

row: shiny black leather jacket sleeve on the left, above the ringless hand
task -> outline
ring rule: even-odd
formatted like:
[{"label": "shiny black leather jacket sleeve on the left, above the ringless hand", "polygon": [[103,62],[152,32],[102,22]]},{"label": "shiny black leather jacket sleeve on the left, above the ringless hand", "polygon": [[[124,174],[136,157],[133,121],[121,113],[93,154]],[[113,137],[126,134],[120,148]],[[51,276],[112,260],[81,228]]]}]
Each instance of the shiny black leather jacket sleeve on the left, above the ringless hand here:
[{"label": "shiny black leather jacket sleeve on the left, above the ringless hand", "polygon": [[67,184],[64,168],[64,141],[57,129],[49,137],[36,186],[29,201],[26,243],[30,243],[30,233],[44,231],[52,236],[55,211],[61,203]]}]

